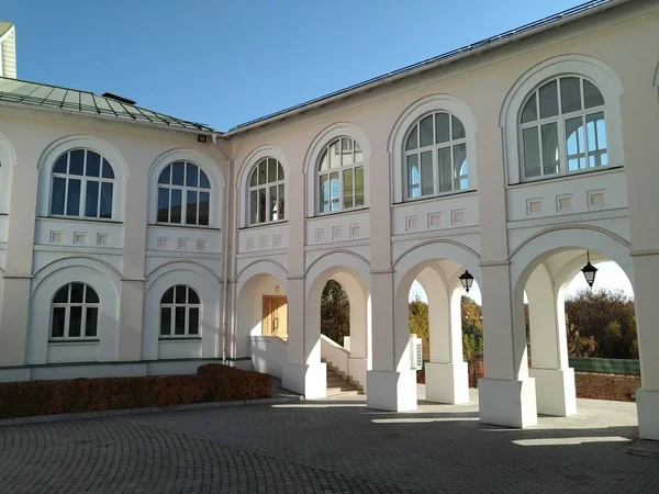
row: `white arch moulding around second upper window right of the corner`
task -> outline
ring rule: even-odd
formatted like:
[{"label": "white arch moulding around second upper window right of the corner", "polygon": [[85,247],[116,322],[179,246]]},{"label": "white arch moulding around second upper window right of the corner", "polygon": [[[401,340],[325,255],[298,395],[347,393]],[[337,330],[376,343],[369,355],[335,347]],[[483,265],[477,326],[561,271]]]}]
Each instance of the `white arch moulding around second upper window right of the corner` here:
[{"label": "white arch moulding around second upper window right of the corner", "polygon": [[336,123],[324,128],[311,143],[306,155],[304,156],[304,173],[306,184],[306,216],[312,217],[317,215],[317,200],[316,200],[316,173],[319,159],[325,145],[330,141],[340,137],[351,137],[357,141],[364,151],[364,205],[368,207],[370,204],[370,192],[368,188],[369,175],[370,175],[370,157],[371,147],[370,143],[361,128],[347,122]]}]

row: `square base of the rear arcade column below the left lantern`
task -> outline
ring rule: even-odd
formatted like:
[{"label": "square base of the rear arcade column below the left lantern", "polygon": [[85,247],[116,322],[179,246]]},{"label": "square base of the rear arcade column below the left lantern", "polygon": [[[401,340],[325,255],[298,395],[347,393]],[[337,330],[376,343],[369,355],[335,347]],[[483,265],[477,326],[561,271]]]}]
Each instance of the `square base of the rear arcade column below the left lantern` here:
[{"label": "square base of the rear arcade column below the left lantern", "polygon": [[426,401],[459,405],[469,403],[467,362],[426,362]]}]

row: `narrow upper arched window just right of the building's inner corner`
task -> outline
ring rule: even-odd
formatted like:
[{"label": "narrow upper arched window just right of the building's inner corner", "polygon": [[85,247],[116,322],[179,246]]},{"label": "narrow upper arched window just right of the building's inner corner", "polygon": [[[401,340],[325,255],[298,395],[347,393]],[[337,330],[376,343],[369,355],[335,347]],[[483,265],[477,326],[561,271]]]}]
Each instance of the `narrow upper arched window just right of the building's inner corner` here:
[{"label": "narrow upper arched window just right of the building's inner corner", "polygon": [[284,218],[283,168],[275,158],[261,159],[249,177],[249,225]]}]

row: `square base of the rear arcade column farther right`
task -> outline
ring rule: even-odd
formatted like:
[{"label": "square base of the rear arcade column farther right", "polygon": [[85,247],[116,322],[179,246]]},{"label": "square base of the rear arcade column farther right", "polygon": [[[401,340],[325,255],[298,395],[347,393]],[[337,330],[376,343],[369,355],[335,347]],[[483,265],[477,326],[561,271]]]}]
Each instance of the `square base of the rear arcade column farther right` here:
[{"label": "square base of the rear arcade column farther right", "polygon": [[528,369],[536,380],[538,414],[569,417],[577,413],[574,369]]}]

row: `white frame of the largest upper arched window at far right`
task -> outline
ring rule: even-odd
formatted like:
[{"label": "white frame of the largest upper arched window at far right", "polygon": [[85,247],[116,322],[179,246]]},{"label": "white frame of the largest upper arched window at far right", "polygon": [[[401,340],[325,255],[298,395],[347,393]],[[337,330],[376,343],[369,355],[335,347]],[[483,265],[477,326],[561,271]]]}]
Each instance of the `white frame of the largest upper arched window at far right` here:
[{"label": "white frame of the largest upper arched window at far right", "polygon": [[[562,112],[562,100],[561,100],[561,85],[560,85],[560,80],[565,79],[565,78],[578,78],[579,79],[579,91],[580,91],[580,98],[581,98],[581,109],[573,111],[573,112],[569,112],[569,113],[563,113]],[[604,114],[604,125],[606,128],[606,122],[607,122],[607,111],[606,111],[606,101],[604,101],[604,104],[597,105],[597,106],[591,106],[589,109],[585,108],[584,104],[584,86],[583,86],[583,81],[587,80],[590,83],[592,83],[597,91],[600,91],[600,94],[602,96],[602,99],[604,100],[604,94],[602,93],[602,90],[597,87],[597,85],[595,83],[595,81],[590,80],[588,77],[583,77],[582,75],[579,74],[561,74],[561,75],[557,75],[555,77],[551,77],[545,81],[543,81],[540,85],[538,85],[533,91],[530,91],[526,98],[524,99],[522,105],[520,106],[520,112],[518,112],[518,116],[517,116],[517,122],[518,122],[518,131],[517,131],[517,135],[520,136],[518,138],[518,150],[517,153],[520,154],[520,176],[522,178],[522,180],[524,182],[533,182],[533,181],[538,181],[538,180],[547,180],[547,179],[551,179],[551,178],[556,178],[556,177],[566,177],[568,175],[580,175],[580,173],[590,173],[593,171],[601,171],[601,170],[606,170],[610,168],[608,166],[608,155],[610,155],[610,145],[608,145],[608,135],[606,135],[606,148],[605,148],[605,153],[607,155],[607,164],[606,165],[595,165],[594,167],[590,167],[589,166],[589,156],[591,156],[592,151],[589,151],[589,137],[588,137],[588,127],[587,127],[587,122],[585,119],[589,115],[593,115],[593,114],[597,114],[597,113],[603,113]],[[557,103],[558,103],[558,114],[554,115],[554,116],[547,116],[545,119],[540,117],[540,97],[539,97],[539,90],[540,88],[543,88],[545,85],[548,85],[550,82],[556,82],[556,88],[557,88]],[[533,98],[535,96],[536,98],[536,114],[538,116],[537,120],[534,120],[533,122],[526,122],[526,123],[522,123],[522,112],[524,111],[524,109],[526,108],[526,103],[528,102],[528,100],[530,100],[530,98]],[[572,120],[576,117],[581,117],[582,123],[583,123],[583,159],[585,160],[587,167],[581,169],[577,169],[577,170],[569,170],[568,169],[568,149],[567,149],[567,136],[566,136],[566,123],[568,120]],[[555,123],[557,124],[558,127],[558,157],[559,157],[559,170],[557,173],[545,173],[545,166],[543,162],[543,136],[541,136],[541,128],[543,125],[547,125],[547,124],[551,124]],[[525,166],[525,161],[524,161],[524,131],[527,128],[537,128],[537,134],[538,134],[538,153],[539,153],[539,158],[540,158],[540,175],[537,177],[526,177],[526,166]],[[596,127],[595,127],[595,133],[596,133]],[[581,156],[581,154],[579,155]],[[579,158],[578,158],[579,159]]]}]

